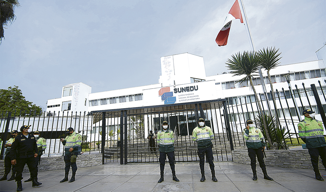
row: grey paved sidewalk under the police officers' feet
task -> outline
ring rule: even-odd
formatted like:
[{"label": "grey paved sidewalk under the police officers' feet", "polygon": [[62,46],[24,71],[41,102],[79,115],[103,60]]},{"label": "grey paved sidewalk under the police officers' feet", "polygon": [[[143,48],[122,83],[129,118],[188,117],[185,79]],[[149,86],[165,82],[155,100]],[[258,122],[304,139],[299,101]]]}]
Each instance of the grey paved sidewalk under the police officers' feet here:
[{"label": "grey paved sidewalk under the police officers' feet", "polygon": [[[263,179],[258,170],[258,181],[252,181],[252,172],[249,165],[233,162],[215,162],[216,178],[211,180],[208,164],[205,163],[206,181],[200,182],[198,163],[176,164],[176,175],[180,182],[172,181],[169,164],[165,166],[164,182],[158,184],[159,164],[108,164],[91,168],[79,168],[76,181],[73,183],[59,183],[64,178],[64,170],[42,171],[38,173],[39,187],[32,187],[32,183],[24,183],[23,191],[78,191],[78,192],[325,192],[326,182],[315,179],[311,169],[267,167],[268,175],[274,181]],[[325,177],[325,170],[320,173]],[[10,175],[9,175],[10,176]],[[69,174],[69,179],[71,172]],[[29,178],[23,174],[24,180]],[[9,177],[8,177],[9,178]],[[0,191],[16,191],[14,181],[1,181]]]}]

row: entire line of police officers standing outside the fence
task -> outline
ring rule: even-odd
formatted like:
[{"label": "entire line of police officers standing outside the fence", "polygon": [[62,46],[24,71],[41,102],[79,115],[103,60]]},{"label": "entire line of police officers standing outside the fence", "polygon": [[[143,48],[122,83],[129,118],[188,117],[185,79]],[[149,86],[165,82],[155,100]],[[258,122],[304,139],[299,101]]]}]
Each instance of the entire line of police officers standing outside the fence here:
[{"label": "entire line of police officers standing outside the fence", "polygon": [[[326,142],[323,136],[324,130],[322,123],[314,119],[315,112],[309,109],[303,111],[304,120],[298,124],[299,136],[306,143],[306,147],[311,157],[311,163],[315,172],[316,179],[323,181],[318,169],[319,156],[322,160],[322,164],[326,170]],[[259,128],[256,128],[253,121],[246,120],[246,128],[243,130],[243,137],[246,140],[246,146],[248,148],[248,155],[250,158],[250,166],[253,172],[253,180],[256,181],[256,157],[259,162],[264,179],[273,181],[271,177],[267,175],[266,165],[264,163],[264,150],[265,142]],[[10,139],[5,145],[5,174],[0,181],[7,180],[7,175],[12,169],[12,175],[8,181],[14,180],[17,182],[17,191],[22,191],[22,171],[27,164],[30,171],[30,178],[24,182],[32,181],[32,187],[39,186],[42,183],[37,181],[37,165],[40,162],[40,156],[46,149],[46,141],[44,138],[39,137],[40,132],[35,131],[34,135],[30,125],[22,126],[20,131],[21,135],[18,136],[16,130],[10,132]],[[73,128],[68,128],[65,139],[61,138],[60,141],[65,146],[65,178],[60,183],[68,181],[68,174],[70,167],[72,168],[72,176],[68,183],[75,181],[75,175],[77,171],[76,158],[79,154],[79,148],[81,147],[82,136],[74,131]],[[151,133],[155,138],[154,134]],[[208,161],[209,167],[212,173],[212,181],[217,182],[215,177],[215,166],[213,157],[213,143],[214,133],[212,129],[205,125],[205,120],[199,118],[198,126],[192,132],[192,140],[197,143],[199,167],[201,173],[200,182],[205,182],[204,162],[205,155]],[[164,167],[166,157],[168,157],[170,168],[172,171],[172,180],[179,182],[180,180],[175,174],[175,156],[174,156],[174,134],[169,129],[167,121],[163,121],[162,128],[157,132],[157,142],[159,144],[159,162],[160,162],[160,179],[157,183],[164,181]]]}]

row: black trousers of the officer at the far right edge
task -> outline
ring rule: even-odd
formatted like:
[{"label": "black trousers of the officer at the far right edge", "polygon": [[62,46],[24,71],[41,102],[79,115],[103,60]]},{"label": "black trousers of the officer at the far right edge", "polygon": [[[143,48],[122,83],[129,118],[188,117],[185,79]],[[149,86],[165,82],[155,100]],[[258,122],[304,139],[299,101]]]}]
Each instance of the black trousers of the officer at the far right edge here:
[{"label": "black trousers of the officer at the far right edge", "polygon": [[321,163],[323,164],[325,170],[326,170],[326,147],[316,147],[316,148],[308,148],[309,155],[311,157],[311,164],[314,168],[314,171],[316,174],[319,174],[318,169],[318,161],[319,156],[321,159]]}]

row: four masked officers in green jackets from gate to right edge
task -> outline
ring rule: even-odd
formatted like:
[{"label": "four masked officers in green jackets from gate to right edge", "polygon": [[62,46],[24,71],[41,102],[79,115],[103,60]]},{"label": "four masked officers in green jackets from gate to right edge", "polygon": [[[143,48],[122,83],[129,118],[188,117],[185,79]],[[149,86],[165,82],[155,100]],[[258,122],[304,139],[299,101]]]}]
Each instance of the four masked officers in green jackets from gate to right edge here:
[{"label": "four masked officers in green jackets from gate to right edge", "polygon": [[[324,181],[320,176],[318,169],[319,156],[321,162],[326,170],[326,142],[324,138],[324,129],[322,123],[314,119],[315,112],[310,109],[303,111],[304,120],[298,124],[299,136],[306,143],[309,155],[311,157],[312,167],[315,172],[315,177],[319,181]],[[248,149],[248,156],[250,158],[250,166],[253,172],[253,181],[257,181],[257,171],[256,171],[256,157],[259,162],[259,167],[261,168],[264,179],[274,181],[270,176],[267,175],[266,165],[264,162],[264,150],[265,142],[264,136],[259,128],[256,128],[253,121],[246,120],[246,128],[243,130],[243,137],[246,141],[246,146]],[[211,140],[214,139],[214,133],[212,129],[205,125],[205,120],[199,118],[198,126],[192,132],[192,140],[197,142],[198,156],[199,156],[199,167],[201,173],[200,182],[205,182],[205,171],[204,171],[204,161],[205,155],[209,167],[212,172],[212,180],[217,182],[215,177],[214,169],[214,157],[213,157],[213,143]],[[162,129],[157,132],[157,142],[159,143],[160,152],[159,162],[160,162],[160,179],[157,183],[164,181],[164,166],[166,161],[166,156],[168,156],[170,168],[172,171],[172,180],[179,182],[179,179],[175,175],[175,157],[174,157],[174,135],[173,131],[168,128],[168,122],[163,121]]]}]

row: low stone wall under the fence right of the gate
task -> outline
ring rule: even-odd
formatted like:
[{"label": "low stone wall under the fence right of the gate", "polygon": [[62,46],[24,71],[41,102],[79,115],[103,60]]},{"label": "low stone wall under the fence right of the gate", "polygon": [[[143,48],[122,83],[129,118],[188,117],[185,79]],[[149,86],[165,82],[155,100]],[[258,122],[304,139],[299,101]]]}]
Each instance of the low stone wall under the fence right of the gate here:
[{"label": "low stone wall under the fence right of the gate", "polygon": [[[266,150],[264,161],[266,166],[286,168],[307,168],[312,169],[310,155],[306,149],[297,150]],[[247,149],[232,151],[234,163],[250,165],[250,158]],[[258,165],[258,160],[257,166]],[[324,169],[319,157],[319,169]]]}]

